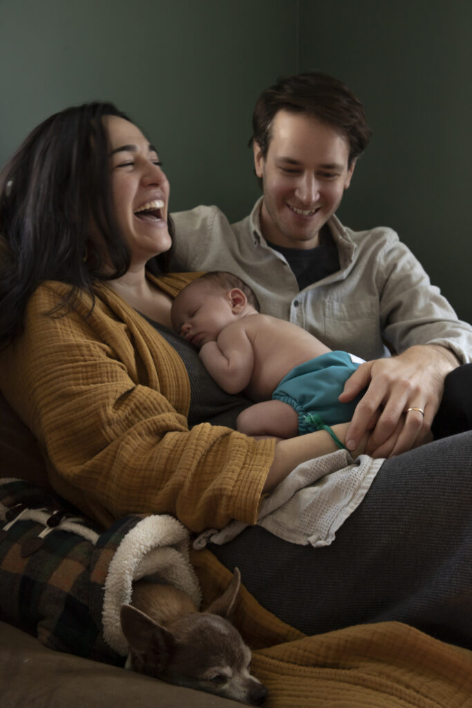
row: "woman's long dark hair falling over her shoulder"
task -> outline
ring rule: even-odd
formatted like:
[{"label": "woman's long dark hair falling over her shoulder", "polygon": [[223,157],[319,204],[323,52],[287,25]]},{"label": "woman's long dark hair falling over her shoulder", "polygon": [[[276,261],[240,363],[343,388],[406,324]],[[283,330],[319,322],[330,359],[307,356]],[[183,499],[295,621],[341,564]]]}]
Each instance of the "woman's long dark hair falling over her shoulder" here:
[{"label": "woman's long dark hair falling over her shoulder", "polygon": [[0,175],[0,347],[23,331],[28,299],[40,283],[72,286],[62,303],[67,311],[79,290],[93,297],[93,282],[129,268],[113,209],[105,115],[129,120],[113,103],[98,102],[52,115]]}]

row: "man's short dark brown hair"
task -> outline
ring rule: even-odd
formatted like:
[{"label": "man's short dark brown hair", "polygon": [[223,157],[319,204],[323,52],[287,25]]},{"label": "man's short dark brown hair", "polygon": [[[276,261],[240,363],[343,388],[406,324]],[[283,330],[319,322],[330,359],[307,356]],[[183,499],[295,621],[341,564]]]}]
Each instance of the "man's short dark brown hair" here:
[{"label": "man's short dark brown hair", "polygon": [[345,135],[348,166],[364,152],[372,135],[362,103],[342,81],[319,72],[284,76],[265,89],[255,104],[250,144],[258,143],[264,159],[272,138],[272,121],[279,110],[306,113]]}]

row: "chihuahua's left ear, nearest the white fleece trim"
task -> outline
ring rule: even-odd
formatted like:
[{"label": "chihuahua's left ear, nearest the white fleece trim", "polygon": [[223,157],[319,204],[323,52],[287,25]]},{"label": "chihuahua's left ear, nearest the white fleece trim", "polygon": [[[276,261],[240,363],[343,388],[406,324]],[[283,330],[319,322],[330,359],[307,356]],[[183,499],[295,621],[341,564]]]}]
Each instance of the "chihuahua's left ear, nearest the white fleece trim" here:
[{"label": "chihuahua's left ear, nearest the white fleece trim", "polygon": [[133,668],[148,675],[162,673],[175,648],[172,632],[132,605],[121,606],[120,622],[129,648],[137,659]]}]

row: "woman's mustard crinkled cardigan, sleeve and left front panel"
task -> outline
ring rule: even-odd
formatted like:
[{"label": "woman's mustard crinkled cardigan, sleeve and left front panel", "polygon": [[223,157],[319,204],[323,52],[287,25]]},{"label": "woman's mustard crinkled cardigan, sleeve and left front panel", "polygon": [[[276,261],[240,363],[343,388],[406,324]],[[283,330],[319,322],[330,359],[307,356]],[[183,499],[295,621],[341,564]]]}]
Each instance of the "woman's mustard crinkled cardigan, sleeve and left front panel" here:
[{"label": "woman's mustard crinkled cardigan, sleeve and left front panel", "polygon": [[151,361],[139,328],[102,303],[45,314],[54,306],[54,288],[40,287],[0,381],[56,491],[100,523],[147,512],[196,532],[255,523],[275,443],[209,423],[189,430],[188,377],[157,333]]}]

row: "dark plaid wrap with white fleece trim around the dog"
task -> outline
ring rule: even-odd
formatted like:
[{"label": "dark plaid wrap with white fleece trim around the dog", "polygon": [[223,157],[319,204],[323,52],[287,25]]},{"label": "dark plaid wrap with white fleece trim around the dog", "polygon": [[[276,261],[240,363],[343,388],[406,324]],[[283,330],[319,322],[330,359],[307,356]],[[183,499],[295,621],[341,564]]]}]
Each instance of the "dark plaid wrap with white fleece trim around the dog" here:
[{"label": "dark plaid wrap with white fleece trim around the dog", "polygon": [[118,666],[120,607],[152,575],[200,605],[188,532],[167,515],[130,515],[103,532],[44,489],[0,479],[0,619],[50,647]]}]

